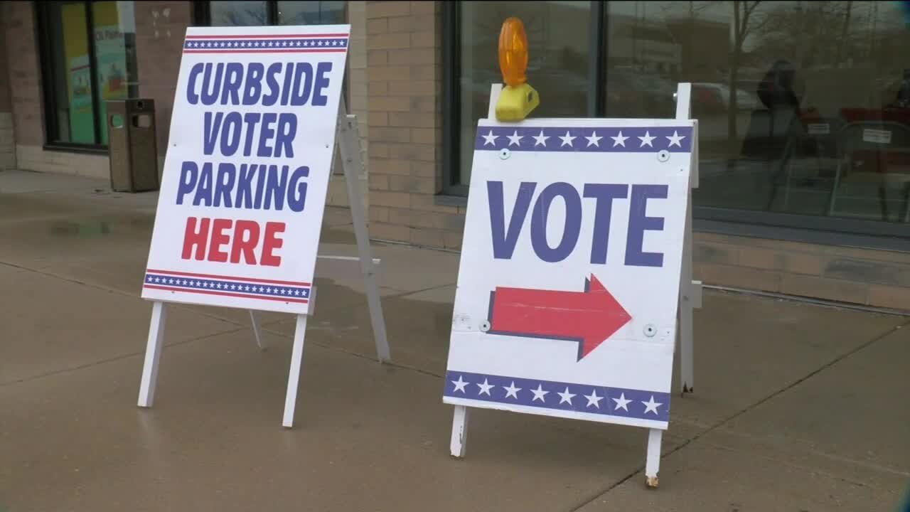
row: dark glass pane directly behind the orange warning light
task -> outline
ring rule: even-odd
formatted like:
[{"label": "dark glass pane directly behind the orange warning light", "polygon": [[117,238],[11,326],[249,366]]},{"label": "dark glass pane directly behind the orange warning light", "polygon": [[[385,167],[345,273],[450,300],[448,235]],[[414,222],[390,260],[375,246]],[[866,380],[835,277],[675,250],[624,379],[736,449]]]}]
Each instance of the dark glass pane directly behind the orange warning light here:
[{"label": "dark glass pane directly behind the orange warning light", "polygon": [[460,3],[460,183],[470,183],[477,121],[487,117],[490,84],[501,83],[500,28],[518,16],[528,36],[528,77],[541,95],[535,117],[583,118],[592,105],[589,2]]}]

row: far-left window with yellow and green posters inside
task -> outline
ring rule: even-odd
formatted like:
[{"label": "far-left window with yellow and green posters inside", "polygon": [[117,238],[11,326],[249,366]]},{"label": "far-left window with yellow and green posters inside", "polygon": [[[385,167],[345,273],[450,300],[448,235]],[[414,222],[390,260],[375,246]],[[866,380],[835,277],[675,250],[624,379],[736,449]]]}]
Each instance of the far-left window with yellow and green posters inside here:
[{"label": "far-left window with yellow and green posters inside", "polygon": [[137,95],[133,2],[38,2],[49,146],[104,148],[111,99]]}]

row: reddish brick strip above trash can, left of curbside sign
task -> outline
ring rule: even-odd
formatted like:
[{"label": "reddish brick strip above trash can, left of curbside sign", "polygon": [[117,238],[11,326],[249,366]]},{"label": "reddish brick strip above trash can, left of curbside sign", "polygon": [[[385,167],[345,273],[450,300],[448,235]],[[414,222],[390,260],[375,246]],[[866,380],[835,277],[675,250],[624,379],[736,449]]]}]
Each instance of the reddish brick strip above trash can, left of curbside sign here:
[{"label": "reddish brick strip above trash can, left of curbside sign", "polygon": [[190,2],[136,2],[136,59],[139,96],[155,100],[158,169],[164,166],[183,40],[191,21]]}]

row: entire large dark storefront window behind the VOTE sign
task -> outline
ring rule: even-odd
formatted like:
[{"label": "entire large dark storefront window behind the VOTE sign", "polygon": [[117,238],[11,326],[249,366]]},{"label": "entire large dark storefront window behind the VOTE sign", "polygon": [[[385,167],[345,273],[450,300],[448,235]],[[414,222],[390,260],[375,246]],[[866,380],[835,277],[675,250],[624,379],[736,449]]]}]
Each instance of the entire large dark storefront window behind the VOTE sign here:
[{"label": "entire large dark storefront window behind the VOTE sign", "polygon": [[910,24],[900,3],[463,2],[447,11],[448,194],[501,80],[502,20],[528,32],[534,116],[671,118],[693,83],[697,218],[907,238]]}]

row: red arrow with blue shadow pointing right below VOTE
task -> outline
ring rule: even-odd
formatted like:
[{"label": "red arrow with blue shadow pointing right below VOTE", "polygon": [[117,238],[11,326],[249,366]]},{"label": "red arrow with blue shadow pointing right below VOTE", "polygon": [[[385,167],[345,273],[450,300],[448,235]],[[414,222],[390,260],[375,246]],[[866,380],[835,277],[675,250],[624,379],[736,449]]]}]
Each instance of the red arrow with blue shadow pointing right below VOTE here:
[{"label": "red arrow with blue shadow pointing right below VOTE", "polygon": [[490,294],[489,333],[579,342],[579,361],[630,320],[593,274],[584,292],[497,287]]}]

